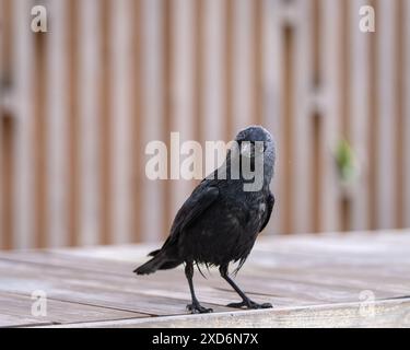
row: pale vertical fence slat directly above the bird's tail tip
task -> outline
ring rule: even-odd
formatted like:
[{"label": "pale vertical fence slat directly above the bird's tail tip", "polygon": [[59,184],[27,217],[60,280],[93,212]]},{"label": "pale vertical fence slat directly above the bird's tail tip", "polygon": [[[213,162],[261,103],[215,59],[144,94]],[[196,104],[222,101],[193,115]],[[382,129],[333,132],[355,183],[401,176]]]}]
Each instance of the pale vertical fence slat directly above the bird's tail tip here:
[{"label": "pale vertical fence slat directly above the bird's tail tip", "polygon": [[[143,0],[142,3],[142,100],[144,101],[143,147],[153,140],[163,140],[164,124],[162,91],[163,91],[163,5],[161,0]],[[142,152],[144,149],[142,149]],[[145,161],[150,156],[145,158]],[[164,160],[166,161],[166,160]],[[164,235],[164,194],[160,180],[150,180],[143,176],[142,198],[142,240],[156,241]]]}]

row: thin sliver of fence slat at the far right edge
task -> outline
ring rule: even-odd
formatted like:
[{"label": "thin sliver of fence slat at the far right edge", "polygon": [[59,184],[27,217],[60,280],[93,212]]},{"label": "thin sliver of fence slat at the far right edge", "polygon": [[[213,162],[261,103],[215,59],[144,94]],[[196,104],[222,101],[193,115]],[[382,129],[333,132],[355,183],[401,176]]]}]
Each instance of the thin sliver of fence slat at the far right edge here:
[{"label": "thin sliver of fence slat at the far right edge", "polygon": [[405,183],[405,226],[410,228],[410,69],[409,69],[409,61],[410,61],[410,3],[409,1],[405,1],[403,4],[403,14],[405,14],[405,31],[403,31],[403,51],[405,51],[405,72],[403,72],[403,79],[405,79],[405,86],[403,86],[403,98],[405,98],[405,166],[403,166],[403,178],[406,180]]}]

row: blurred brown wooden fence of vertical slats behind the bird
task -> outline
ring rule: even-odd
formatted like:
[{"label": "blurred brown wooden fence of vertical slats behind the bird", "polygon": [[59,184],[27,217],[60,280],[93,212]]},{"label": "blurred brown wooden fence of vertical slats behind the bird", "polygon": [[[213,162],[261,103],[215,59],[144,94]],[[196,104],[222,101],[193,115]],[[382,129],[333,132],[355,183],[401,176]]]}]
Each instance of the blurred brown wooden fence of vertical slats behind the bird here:
[{"label": "blurred brown wooden fence of vertical slats behind the bird", "polygon": [[409,67],[408,0],[0,0],[0,247],[161,240],[196,182],[149,180],[145,144],[250,124],[265,234],[410,226]]}]

